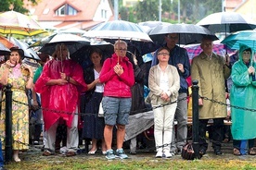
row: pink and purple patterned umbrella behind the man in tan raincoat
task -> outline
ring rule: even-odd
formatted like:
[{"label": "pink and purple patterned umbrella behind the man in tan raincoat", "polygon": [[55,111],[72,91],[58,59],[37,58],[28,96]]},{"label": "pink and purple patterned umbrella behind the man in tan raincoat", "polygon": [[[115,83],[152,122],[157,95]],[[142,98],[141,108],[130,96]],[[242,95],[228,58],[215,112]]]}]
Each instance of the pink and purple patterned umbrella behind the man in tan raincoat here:
[{"label": "pink and purple patterned umbrella behind the man in tan raincoat", "polygon": [[[190,61],[193,59],[194,56],[197,56],[202,52],[200,43],[188,44],[183,47],[186,48],[186,52]],[[226,50],[228,55],[234,55],[236,53],[236,50],[232,50],[231,48],[226,47],[223,43],[219,41],[213,42],[213,52],[215,54],[224,56],[226,54]]]}]

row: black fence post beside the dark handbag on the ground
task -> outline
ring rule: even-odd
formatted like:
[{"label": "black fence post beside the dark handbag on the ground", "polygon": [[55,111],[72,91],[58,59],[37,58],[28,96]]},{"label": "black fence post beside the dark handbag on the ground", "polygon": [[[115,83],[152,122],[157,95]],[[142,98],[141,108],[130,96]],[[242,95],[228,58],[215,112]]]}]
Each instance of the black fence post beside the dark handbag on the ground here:
[{"label": "black fence post beside the dark handbag on the ground", "polygon": [[192,139],[193,139],[193,148],[195,152],[195,158],[200,159],[199,156],[199,118],[198,118],[198,80],[192,80]]}]

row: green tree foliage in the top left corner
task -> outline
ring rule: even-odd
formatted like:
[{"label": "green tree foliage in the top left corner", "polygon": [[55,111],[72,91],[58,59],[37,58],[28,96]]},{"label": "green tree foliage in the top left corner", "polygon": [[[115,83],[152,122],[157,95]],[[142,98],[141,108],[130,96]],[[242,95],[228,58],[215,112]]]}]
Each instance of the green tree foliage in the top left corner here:
[{"label": "green tree foliage in the top left corner", "polygon": [[[38,0],[28,0],[32,5],[36,5]],[[20,13],[27,13],[29,10],[24,6],[23,0],[1,0],[0,12],[5,12],[13,9]]]}]

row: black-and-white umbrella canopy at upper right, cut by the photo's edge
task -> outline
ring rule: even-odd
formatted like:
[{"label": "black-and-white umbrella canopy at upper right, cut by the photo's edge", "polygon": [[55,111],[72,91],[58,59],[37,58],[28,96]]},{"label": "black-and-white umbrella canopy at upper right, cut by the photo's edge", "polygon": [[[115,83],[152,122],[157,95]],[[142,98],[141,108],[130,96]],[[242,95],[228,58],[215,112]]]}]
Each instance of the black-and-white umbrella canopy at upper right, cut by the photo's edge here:
[{"label": "black-and-white umbrella canopy at upper right, cut by the photo's edge", "polygon": [[197,25],[203,26],[212,32],[235,32],[256,28],[254,21],[236,12],[213,13],[206,18],[202,18]]}]

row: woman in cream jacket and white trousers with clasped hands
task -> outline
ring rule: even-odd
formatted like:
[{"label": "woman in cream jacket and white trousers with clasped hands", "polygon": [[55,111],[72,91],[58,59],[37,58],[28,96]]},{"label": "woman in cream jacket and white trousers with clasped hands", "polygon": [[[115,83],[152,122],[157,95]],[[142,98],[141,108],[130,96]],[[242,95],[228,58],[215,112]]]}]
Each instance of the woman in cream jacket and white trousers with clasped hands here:
[{"label": "woman in cream jacket and white trousers with clasped hands", "polygon": [[[159,64],[149,70],[148,97],[154,112],[154,136],[157,148],[157,158],[171,158],[170,146],[173,133],[173,119],[180,88],[180,77],[176,67],[168,64],[169,49],[160,48],[158,51]],[[160,107],[155,107],[164,104]]]}]

